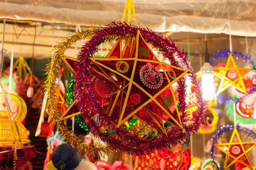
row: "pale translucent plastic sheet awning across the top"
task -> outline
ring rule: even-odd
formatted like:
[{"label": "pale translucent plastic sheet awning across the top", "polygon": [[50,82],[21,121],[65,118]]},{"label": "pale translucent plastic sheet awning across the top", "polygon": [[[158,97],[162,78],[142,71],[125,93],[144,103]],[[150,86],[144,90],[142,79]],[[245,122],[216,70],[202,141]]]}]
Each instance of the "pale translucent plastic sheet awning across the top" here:
[{"label": "pale translucent plastic sheet awning across the top", "polygon": [[[256,37],[256,1],[134,0],[140,25],[158,32]],[[120,20],[125,0],[0,0],[0,18],[99,26]]]}]

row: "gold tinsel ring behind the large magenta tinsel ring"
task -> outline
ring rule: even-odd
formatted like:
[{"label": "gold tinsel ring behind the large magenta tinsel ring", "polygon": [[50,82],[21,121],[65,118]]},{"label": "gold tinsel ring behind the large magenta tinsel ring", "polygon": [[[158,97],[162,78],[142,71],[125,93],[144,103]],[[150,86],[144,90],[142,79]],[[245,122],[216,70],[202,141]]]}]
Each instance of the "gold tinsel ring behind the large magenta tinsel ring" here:
[{"label": "gold tinsel ring behind the large magenta tinsel ring", "polygon": [[[88,146],[83,139],[79,138],[74,134],[69,128],[67,128],[62,121],[58,121],[59,117],[62,115],[62,111],[59,109],[59,101],[57,94],[57,83],[56,77],[59,75],[60,63],[62,62],[61,57],[64,56],[64,52],[71,47],[75,42],[90,39],[98,29],[87,29],[82,32],[77,32],[71,34],[67,39],[59,42],[55,48],[53,48],[52,60],[46,66],[46,80],[44,83],[45,94],[48,95],[46,100],[46,107],[49,111],[49,120],[54,123],[59,131],[60,136],[63,137],[64,141],[68,142],[72,147],[75,147],[77,151],[87,154],[97,154],[97,153],[111,153],[112,148],[108,145],[105,146]],[[114,37],[110,37],[114,38]],[[129,40],[130,37],[125,39]],[[145,132],[150,129],[149,125],[145,123],[139,126],[138,130],[130,131],[131,133],[136,133],[139,136],[143,136]]]}]

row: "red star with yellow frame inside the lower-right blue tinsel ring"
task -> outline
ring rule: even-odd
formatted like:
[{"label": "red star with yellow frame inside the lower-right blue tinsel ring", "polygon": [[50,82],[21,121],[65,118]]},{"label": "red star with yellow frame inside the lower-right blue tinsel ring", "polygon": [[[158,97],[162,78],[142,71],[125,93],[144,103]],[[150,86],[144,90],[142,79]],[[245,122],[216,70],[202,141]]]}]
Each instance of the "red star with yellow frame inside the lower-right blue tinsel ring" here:
[{"label": "red star with yellow frame inside the lower-right blue tinsel ring", "polygon": [[235,162],[240,162],[242,165],[253,168],[248,152],[250,152],[255,146],[256,142],[243,142],[237,131],[237,126],[234,126],[232,136],[229,143],[215,144],[221,152],[226,154],[224,168],[228,168]]}]

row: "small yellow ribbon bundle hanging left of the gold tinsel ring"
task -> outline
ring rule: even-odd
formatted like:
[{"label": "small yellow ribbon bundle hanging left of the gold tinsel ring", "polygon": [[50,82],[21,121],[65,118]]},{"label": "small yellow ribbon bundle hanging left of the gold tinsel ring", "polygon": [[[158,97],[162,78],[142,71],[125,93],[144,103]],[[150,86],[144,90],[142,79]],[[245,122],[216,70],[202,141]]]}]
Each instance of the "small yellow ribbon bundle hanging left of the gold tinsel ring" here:
[{"label": "small yellow ribbon bundle hanging left of the gold tinsel ring", "polygon": [[26,75],[28,74],[32,75],[32,71],[28,63],[26,62],[26,60],[23,58],[23,56],[19,56],[19,58],[15,61],[13,70],[15,69],[19,77],[22,77],[22,73]]}]

